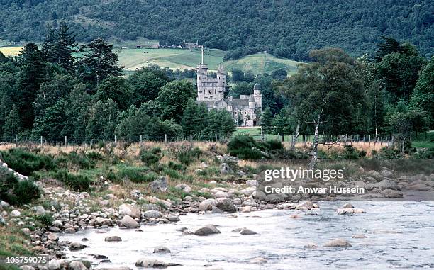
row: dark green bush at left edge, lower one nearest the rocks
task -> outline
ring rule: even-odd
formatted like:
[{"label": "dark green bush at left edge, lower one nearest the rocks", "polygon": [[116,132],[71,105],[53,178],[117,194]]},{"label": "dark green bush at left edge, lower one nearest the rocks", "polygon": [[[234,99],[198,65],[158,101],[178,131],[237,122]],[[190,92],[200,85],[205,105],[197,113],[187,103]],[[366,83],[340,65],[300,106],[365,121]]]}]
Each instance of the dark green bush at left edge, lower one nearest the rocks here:
[{"label": "dark green bush at left edge, lower one nearest the rocks", "polygon": [[0,171],[0,199],[13,206],[30,203],[40,198],[40,189],[30,180],[19,181],[10,171]]}]

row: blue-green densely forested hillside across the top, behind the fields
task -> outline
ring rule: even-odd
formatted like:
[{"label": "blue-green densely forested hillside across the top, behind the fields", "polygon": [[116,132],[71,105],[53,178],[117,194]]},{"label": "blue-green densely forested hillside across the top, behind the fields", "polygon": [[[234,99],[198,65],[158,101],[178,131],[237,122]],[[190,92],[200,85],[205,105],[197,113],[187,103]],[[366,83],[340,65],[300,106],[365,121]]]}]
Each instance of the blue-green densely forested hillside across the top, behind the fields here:
[{"label": "blue-green densely forested hillside across the top, behind the fields", "polygon": [[42,40],[65,18],[78,40],[137,37],[179,44],[199,40],[229,50],[260,50],[306,60],[318,47],[372,52],[382,35],[433,52],[431,0],[0,0],[0,38]]}]

